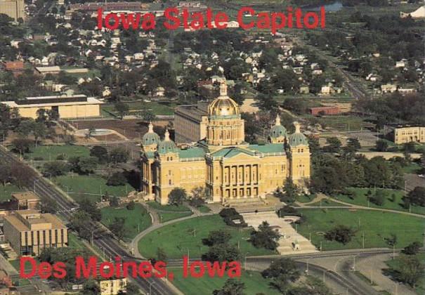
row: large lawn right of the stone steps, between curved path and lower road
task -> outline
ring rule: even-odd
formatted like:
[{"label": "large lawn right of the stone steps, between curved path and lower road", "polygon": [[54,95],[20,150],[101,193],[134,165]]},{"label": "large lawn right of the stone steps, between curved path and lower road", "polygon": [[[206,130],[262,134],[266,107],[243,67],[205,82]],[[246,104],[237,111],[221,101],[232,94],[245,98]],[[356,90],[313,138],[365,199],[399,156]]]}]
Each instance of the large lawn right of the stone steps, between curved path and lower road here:
[{"label": "large lawn right of the stone steps, between curved path and lower road", "polygon": [[[304,237],[311,233],[316,247],[322,241],[323,250],[362,248],[362,234],[365,248],[388,247],[384,238],[397,235],[396,247],[403,248],[414,241],[422,240],[424,218],[391,212],[353,209],[300,209],[306,221],[298,225]],[[359,226],[360,223],[360,226]],[[356,230],[355,237],[347,244],[326,240],[324,233],[336,225],[347,225]]]}]

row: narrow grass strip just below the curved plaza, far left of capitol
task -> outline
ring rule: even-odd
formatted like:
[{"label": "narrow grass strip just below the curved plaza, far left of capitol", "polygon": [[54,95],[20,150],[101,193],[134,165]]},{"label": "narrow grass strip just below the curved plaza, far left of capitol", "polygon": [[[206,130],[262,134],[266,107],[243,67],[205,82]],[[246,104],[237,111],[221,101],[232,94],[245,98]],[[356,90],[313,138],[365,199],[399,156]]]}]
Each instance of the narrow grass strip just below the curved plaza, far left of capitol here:
[{"label": "narrow grass strip just below the curved plaza, far left of capitol", "polygon": [[43,159],[45,161],[53,161],[58,156],[63,156],[64,159],[70,157],[89,157],[89,147],[79,145],[39,145],[33,147],[31,153],[27,154],[29,159]]}]

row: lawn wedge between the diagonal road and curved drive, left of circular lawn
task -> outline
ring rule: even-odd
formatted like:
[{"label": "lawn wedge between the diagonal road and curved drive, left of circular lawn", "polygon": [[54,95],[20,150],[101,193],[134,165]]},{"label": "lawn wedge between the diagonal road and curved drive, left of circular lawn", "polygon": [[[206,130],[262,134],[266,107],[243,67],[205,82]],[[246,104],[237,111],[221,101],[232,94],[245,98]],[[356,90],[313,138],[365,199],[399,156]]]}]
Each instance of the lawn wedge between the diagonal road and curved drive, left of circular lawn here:
[{"label": "lawn wedge between the diagonal road and curved drive, left of circular lawn", "polygon": [[148,211],[140,204],[136,204],[134,210],[124,208],[106,207],[102,210],[102,223],[109,227],[114,222],[115,217],[124,217],[126,228],[124,240],[132,240],[139,232],[152,225],[152,220]]}]

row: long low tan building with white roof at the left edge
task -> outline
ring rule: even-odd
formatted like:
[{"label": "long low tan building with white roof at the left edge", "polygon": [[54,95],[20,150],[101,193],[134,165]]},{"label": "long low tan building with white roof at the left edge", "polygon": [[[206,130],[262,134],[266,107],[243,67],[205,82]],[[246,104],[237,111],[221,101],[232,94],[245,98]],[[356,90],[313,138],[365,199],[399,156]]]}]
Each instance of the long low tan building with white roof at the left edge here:
[{"label": "long low tan building with white roof at the left edge", "polygon": [[25,100],[2,102],[11,108],[16,108],[21,117],[37,118],[40,109],[53,110],[61,119],[100,117],[102,101],[84,96],[37,96]]}]

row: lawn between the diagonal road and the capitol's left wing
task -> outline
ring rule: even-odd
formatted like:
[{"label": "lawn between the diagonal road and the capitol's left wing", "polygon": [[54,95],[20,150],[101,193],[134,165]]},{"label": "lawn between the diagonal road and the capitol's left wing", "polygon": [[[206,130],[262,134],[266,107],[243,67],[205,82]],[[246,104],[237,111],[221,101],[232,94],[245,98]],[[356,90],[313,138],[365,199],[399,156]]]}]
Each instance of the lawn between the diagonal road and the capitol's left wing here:
[{"label": "lawn between the diagonal road and the capitol's left wing", "polygon": [[[83,197],[92,199],[93,201],[100,200],[102,195],[114,195],[115,197],[124,197],[128,192],[134,190],[131,185],[106,185],[106,179],[97,175],[66,175],[53,178],[64,192],[69,188],[70,197],[79,201]],[[84,193],[84,194],[83,194]],[[88,195],[98,194],[98,195]]]}]

